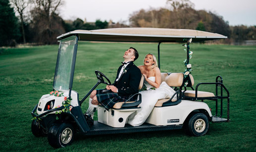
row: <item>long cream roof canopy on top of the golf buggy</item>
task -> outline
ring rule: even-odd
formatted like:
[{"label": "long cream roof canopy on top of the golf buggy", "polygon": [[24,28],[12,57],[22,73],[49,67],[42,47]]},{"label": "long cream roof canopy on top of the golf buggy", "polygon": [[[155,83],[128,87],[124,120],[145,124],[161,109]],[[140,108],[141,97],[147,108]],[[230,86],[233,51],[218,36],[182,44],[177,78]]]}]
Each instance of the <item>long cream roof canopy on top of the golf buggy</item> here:
[{"label": "long cream roof canopy on top of the golf buggy", "polygon": [[69,36],[78,36],[80,41],[105,42],[184,42],[192,38],[193,42],[226,39],[226,36],[197,30],[163,28],[113,28],[101,30],[75,30],[57,37],[62,40]]}]

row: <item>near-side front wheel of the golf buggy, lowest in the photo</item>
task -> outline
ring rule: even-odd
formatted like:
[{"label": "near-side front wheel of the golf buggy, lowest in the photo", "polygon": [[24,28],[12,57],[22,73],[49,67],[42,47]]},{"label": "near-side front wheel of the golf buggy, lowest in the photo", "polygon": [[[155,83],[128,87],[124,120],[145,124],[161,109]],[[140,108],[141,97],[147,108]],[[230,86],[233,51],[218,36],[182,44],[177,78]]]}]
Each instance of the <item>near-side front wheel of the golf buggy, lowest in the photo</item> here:
[{"label": "near-side front wheel of the golf buggy, lowest in the photo", "polygon": [[71,145],[74,140],[75,130],[71,124],[53,124],[49,129],[48,142],[53,148]]}]

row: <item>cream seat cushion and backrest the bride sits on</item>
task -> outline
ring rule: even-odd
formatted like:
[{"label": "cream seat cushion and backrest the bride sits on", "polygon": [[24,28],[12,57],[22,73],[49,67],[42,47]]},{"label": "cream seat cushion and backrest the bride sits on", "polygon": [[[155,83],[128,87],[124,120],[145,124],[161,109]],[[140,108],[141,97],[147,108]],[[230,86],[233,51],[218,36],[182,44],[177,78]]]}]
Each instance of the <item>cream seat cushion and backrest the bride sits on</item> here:
[{"label": "cream seat cushion and backrest the bride sits on", "polygon": [[[183,78],[184,78],[183,73],[161,73],[161,82],[163,81],[166,82],[166,84],[169,85],[170,87],[180,87],[183,84]],[[174,102],[178,100],[176,98],[171,100],[170,98],[160,99],[155,103],[154,106],[161,107],[163,106],[163,103],[166,104],[166,102],[173,102],[173,103],[170,103],[169,105],[176,105],[174,104]]]}]

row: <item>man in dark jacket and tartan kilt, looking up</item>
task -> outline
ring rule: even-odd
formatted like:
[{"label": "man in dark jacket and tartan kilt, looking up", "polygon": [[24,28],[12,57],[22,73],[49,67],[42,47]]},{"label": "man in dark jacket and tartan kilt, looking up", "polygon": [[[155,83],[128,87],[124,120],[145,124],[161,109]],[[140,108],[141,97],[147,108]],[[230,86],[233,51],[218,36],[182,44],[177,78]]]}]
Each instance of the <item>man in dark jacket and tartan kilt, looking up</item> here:
[{"label": "man in dark jacket and tartan kilt, looking up", "polygon": [[[86,119],[89,118],[91,119],[89,121],[92,121],[99,103],[108,110],[116,102],[126,101],[132,95],[138,93],[141,71],[133,63],[138,57],[139,53],[135,48],[131,47],[124,52],[124,62],[117,70],[115,82],[112,85],[107,85],[106,89],[94,90],[91,93],[89,107],[85,114]],[[109,90],[109,92],[104,93],[106,90]]]}]

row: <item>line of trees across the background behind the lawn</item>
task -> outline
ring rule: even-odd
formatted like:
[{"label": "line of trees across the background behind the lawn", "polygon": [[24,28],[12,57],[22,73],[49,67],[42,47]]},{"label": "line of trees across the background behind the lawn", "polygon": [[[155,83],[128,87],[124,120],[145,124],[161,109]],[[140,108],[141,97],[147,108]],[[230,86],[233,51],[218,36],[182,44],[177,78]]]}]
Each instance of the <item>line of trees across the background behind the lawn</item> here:
[{"label": "line of trees across the background behind the lawn", "polygon": [[95,30],[120,27],[154,27],[194,29],[222,34],[231,44],[256,40],[256,26],[229,26],[222,16],[206,10],[195,10],[190,0],[167,0],[164,8],[141,9],[130,14],[130,24],[80,18],[63,20],[58,9],[63,0],[0,0],[0,46],[35,43],[56,44],[56,37],[73,30]]}]

